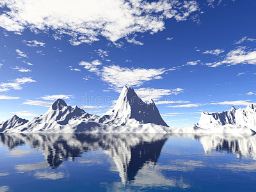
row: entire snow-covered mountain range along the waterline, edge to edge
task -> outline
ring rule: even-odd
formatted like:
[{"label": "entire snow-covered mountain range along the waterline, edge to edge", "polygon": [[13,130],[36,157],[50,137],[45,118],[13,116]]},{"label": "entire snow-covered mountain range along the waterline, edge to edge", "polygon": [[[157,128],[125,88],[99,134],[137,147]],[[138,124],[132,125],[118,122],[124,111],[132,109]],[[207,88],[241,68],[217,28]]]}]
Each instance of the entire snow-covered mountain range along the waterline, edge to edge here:
[{"label": "entire snow-covered mountain range along the waterline, edge to edge", "polygon": [[28,121],[14,115],[0,124],[0,132],[150,132],[150,133],[223,133],[253,134],[256,131],[256,106],[245,109],[232,107],[223,113],[202,112],[198,124],[192,127],[168,127],[153,100],[144,102],[132,88],[124,86],[113,109],[105,115],[86,113],[77,106],[67,106],[56,99],[49,110]]}]

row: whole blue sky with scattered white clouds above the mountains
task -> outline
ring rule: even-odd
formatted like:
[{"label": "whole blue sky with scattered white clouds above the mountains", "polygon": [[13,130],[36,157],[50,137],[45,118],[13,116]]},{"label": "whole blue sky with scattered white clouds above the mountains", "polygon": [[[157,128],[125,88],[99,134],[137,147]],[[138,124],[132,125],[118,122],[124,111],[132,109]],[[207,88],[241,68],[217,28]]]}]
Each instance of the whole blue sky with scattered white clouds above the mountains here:
[{"label": "whole blue sky with scattered white clouds above the mountains", "polygon": [[256,1],[0,1],[0,121],[56,98],[88,113],[122,86],[168,125],[255,103]]}]

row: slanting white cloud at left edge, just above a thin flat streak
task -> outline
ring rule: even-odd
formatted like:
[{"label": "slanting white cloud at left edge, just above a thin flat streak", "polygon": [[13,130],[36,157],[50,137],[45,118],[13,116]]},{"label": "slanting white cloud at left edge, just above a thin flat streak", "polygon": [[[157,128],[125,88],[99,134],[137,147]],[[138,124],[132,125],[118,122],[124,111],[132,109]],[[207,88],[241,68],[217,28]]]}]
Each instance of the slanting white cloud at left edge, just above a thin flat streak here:
[{"label": "slanting white cloud at left edge, just above a thin flat streak", "polygon": [[21,86],[22,84],[32,83],[32,82],[36,82],[36,81],[31,79],[31,77],[17,78],[15,80],[12,80],[10,83],[1,83],[0,92],[8,92],[11,89],[22,90],[23,89],[23,87]]}]

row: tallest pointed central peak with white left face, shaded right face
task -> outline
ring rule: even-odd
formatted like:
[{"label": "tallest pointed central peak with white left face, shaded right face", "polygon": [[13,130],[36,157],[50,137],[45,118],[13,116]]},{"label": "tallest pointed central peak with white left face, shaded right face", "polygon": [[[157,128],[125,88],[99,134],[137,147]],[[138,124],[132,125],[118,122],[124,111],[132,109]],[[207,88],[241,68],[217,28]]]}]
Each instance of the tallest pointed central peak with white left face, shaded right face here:
[{"label": "tallest pointed central peak with white left face, shaded right face", "polygon": [[115,125],[133,124],[136,120],[143,124],[150,123],[168,127],[154,101],[151,99],[148,103],[144,102],[132,88],[127,86],[122,89],[115,107],[109,110],[102,119]]}]

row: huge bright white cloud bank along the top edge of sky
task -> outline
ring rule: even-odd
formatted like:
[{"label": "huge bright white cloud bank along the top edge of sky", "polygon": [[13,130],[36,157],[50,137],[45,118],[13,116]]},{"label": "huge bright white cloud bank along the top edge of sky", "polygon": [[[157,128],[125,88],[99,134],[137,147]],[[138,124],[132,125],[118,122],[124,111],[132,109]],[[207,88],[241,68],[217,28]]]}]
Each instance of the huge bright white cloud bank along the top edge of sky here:
[{"label": "huge bright white cloud bank along the top edge of sky", "polygon": [[0,26],[21,33],[56,31],[55,38],[71,36],[73,45],[90,43],[104,36],[116,40],[136,32],[157,33],[164,29],[164,19],[186,20],[200,10],[196,1],[94,0],[1,1],[6,11],[0,15]]}]

